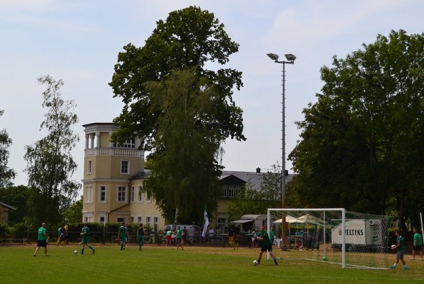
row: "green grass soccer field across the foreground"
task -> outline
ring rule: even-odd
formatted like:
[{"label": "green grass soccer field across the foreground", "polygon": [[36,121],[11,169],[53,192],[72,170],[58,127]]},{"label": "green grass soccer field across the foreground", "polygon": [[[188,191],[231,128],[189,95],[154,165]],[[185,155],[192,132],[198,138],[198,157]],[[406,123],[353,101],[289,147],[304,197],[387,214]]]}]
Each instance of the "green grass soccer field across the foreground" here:
[{"label": "green grass soccer field across the foreground", "polygon": [[[81,247],[49,245],[49,256],[35,245],[0,246],[0,283],[422,283],[424,261],[409,261],[409,270],[341,268],[325,261],[290,259],[290,253],[276,250],[283,257],[279,266],[266,260],[253,266],[259,249],[223,247],[175,247],[93,245],[95,254]],[[78,254],[73,254],[78,250]],[[395,254],[391,254],[393,264]]]}]

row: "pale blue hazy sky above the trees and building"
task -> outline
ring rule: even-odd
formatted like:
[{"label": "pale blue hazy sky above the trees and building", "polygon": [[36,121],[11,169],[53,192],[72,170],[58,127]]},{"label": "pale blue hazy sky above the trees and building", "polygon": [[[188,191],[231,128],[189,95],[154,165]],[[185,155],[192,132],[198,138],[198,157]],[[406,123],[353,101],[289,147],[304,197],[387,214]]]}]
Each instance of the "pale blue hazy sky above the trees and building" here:
[{"label": "pale blue hazy sky above the trees and building", "polygon": [[[287,158],[300,139],[295,122],[321,92],[323,66],[363,49],[379,34],[421,34],[424,28],[422,0],[0,0],[0,130],[13,141],[8,167],[17,173],[15,185],[28,184],[25,146],[46,135],[40,131],[46,86],[37,78],[63,80],[61,97],[76,103],[79,122],[73,131],[81,140],[71,153],[78,164],[72,179],[81,182],[82,125],[112,122],[123,107],[108,85],[119,52],[129,43],[142,47],[157,20],[188,6],[214,13],[240,44],[225,68],[242,71],[244,87],[233,99],[243,110],[247,141],[225,141],[223,166],[229,171],[281,165],[282,64],[266,54],[297,57],[285,65]],[[293,172],[289,161],[285,168]]]}]

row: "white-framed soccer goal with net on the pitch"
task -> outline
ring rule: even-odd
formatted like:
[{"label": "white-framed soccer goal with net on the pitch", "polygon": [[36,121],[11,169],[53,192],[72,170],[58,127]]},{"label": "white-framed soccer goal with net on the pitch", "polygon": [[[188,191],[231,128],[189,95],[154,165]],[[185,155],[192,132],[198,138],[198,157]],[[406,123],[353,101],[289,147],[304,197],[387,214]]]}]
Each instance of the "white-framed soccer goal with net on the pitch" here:
[{"label": "white-framed soccer goal with net on the pitch", "polygon": [[389,267],[393,217],[343,208],[269,208],[267,215],[267,227],[276,231],[273,251],[281,259],[322,261],[342,268]]}]

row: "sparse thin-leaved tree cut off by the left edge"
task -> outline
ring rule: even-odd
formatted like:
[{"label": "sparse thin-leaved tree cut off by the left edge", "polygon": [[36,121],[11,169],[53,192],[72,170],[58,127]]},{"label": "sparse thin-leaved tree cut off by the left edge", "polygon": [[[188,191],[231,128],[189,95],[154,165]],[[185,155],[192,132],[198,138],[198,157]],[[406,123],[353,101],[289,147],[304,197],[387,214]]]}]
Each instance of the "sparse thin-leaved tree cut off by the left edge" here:
[{"label": "sparse thin-leaved tree cut off by the left edge", "polygon": [[[3,115],[4,110],[0,110],[0,117]],[[9,138],[6,129],[0,130],[0,189],[12,185],[15,178],[15,171],[7,166],[9,150],[12,144],[12,139]]]}]

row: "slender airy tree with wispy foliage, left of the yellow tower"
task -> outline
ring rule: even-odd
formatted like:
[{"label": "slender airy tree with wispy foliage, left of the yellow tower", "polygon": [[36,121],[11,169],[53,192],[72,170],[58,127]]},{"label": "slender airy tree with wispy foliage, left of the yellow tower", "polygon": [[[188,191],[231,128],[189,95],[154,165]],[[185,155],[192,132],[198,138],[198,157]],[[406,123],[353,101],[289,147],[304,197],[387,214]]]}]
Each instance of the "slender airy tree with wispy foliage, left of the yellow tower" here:
[{"label": "slender airy tree with wispy foliage, left of the yellow tower", "polygon": [[55,81],[51,76],[42,76],[38,83],[47,85],[42,93],[42,107],[47,107],[45,121],[40,125],[47,130],[47,136],[34,146],[26,146],[25,160],[28,165],[28,187],[32,189],[29,201],[31,223],[61,223],[61,212],[69,207],[70,200],[78,194],[80,184],[71,180],[77,169],[71,150],[79,141],[71,126],[78,122],[73,100],[61,98],[60,88],[63,81]]}]

